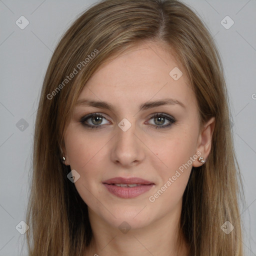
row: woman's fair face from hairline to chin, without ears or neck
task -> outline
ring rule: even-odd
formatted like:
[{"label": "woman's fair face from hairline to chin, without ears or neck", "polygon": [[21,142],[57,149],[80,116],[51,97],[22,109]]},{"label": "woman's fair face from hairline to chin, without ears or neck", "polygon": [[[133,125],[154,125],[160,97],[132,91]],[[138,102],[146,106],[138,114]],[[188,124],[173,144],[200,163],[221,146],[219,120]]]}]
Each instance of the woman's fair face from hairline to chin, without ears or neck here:
[{"label": "woman's fair face from hairline to chin, without ears or neck", "polygon": [[139,228],[181,209],[203,149],[196,99],[180,71],[148,42],[101,65],[83,87],[63,152],[90,219]]}]

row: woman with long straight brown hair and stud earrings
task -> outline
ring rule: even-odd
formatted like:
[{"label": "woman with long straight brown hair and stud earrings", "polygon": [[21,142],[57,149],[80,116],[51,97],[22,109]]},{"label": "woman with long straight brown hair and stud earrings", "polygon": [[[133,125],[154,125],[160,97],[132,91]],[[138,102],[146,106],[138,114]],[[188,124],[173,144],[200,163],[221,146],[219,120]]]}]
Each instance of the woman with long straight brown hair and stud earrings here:
[{"label": "woman with long straight brown hair and stud earrings", "polygon": [[191,9],[105,0],[75,20],[36,116],[30,256],[243,255],[238,179],[221,60]]}]

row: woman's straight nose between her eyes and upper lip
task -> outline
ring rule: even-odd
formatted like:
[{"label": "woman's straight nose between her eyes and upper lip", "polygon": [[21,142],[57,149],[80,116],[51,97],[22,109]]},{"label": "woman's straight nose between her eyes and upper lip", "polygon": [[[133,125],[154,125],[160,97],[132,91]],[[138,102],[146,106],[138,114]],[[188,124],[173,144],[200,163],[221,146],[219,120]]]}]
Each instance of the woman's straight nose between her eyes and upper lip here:
[{"label": "woman's straight nose between her eyes and upper lip", "polygon": [[[131,121],[129,121],[131,123]],[[124,131],[116,126],[116,135],[112,140],[110,159],[112,162],[125,167],[138,164],[145,157],[145,146],[141,142],[141,135],[136,130],[135,123]]]}]

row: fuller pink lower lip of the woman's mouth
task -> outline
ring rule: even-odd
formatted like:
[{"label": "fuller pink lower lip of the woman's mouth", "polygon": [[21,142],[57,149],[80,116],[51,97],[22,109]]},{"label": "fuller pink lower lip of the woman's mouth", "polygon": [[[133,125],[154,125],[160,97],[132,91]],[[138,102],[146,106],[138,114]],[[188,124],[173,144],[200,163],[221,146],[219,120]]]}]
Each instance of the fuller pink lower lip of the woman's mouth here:
[{"label": "fuller pink lower lip of the woman's mouth", "polygon": [[123,187],[123,186],[110,185],[106,183],[103,183],[103,185],[107,188],[107,190],[110,193],[122,198],[136,197],[142,193],[145,193],[146,191],[151,189],[151,187],[153,186],[153,184],[149,184],[149,185],[139,185],[139,186],[133,186],[133,187]]}]

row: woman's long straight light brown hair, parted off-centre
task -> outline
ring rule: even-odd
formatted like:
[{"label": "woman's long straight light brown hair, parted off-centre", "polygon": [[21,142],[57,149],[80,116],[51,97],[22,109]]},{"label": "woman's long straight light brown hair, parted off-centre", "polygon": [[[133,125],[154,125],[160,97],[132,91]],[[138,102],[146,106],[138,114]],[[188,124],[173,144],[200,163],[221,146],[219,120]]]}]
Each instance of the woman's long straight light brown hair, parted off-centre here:
[{"label": "woman's long straight light brown hair, parted off-centre", "polygon": [[[93,72],[118,52],[147,40],[163,42],[174,50],[194,90],[200,121],[216,118],[208,159],[192,167],[183,194],[180,232],[192,255],[243,255],[240,171],[223,68],[210,33],[177,0],[104,0],[82,13],[65,32],[45,74],[26,212],[29,256],[78,256],[90,244],[87,205],[67,179],[70,167],[60,161],[63,133],[79,92]],[[229,234],[221,229],[225,221],[234,226]]]}]

